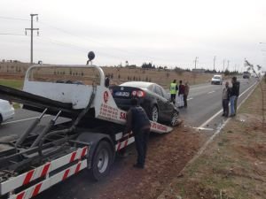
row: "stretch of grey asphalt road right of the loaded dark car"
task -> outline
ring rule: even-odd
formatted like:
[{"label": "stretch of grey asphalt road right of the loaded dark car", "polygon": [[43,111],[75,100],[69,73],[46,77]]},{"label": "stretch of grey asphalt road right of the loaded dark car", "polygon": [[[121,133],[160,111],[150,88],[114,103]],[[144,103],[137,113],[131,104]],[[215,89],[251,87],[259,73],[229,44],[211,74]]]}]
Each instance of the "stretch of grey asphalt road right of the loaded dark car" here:
[{"label": "stretch of grey asphalt road right of the loaded dark car", "polygon": [[[252,90],[252,86],[256,82],[256,79],[240,79],[239,81],[240,90],[238,103],[241,103]],[[185,124],[196,128],[210,128],[214,130],[218,126],[221,126],[224,122],[224,118],[221,117],[223,112],[218,114],[217,117],[214,116],[218,111],[223,109],[223,88],[224,82],[223,85],[201,84],[192,87],[188,96],[188,108],[179,110]],[[214,118],[211,119],[212,117]],[[211,120],[207,122],[208,119]]]}]

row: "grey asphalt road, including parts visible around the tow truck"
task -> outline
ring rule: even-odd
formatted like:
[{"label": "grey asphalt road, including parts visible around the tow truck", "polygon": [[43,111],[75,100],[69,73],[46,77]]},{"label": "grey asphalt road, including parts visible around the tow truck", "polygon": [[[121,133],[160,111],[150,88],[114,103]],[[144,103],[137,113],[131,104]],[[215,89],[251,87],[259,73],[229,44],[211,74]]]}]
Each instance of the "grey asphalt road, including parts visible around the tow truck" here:
[{"label": "grey asphalt road, including parts visible around the tow truck", "polygon": [[[252,90],[254,82],[255,79],[240,80],[239,103]],[[200,129],[203,133],[214,134],[215,130],[222,126],[224,122],[224,118],[221,117],[222,112],[219,112],[222,110],[223,87],[224,82],[222,86],[210,84],[192,86],[188,96],[188,107],[180,109],[180,116],[184,119],[184,124]],[[16,110],[15,117],[0,126],[0,137],[8,134],[22,134],[38,115],[40,113],[34,111]],[[51,116],[45,116],[36,130],[43,128],[49,122],[49,119],[51,119]],[[64,119],[59,119],[59,121],[62,120]],[[109,183],[109,180],[118,176],[121,166],[122,160],[116,158],[111,174],[105,180],[94,182],[90,180],[88,173],[84,171],[44,191],[35,198],[93,198],[101,192],[101,189]]]}]

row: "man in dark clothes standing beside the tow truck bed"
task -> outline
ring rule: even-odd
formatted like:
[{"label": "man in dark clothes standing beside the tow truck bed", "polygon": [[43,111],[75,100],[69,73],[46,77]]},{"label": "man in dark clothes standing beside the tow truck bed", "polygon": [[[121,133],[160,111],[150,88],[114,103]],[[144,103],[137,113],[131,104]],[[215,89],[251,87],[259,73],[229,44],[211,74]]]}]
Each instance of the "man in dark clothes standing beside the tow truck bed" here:
[{"label": "man in dark clothes standing beside the tow truck bed", "polygon": [[133,166],[136,168],[145,168],[145,157],[150,128],[150,119],[145,110],[138,105],[136,98],[131,99],[131,108],[127,113],[127,123],[123,134],[129,134],[131,130],[133,132],[137,149],[137,164]]}]

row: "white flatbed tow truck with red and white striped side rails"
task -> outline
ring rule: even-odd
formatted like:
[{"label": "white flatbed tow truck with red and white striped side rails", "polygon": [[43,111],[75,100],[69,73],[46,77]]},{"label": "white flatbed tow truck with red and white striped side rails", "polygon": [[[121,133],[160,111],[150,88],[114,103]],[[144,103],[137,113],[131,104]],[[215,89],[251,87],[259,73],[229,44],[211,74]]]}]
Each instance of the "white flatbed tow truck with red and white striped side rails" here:
[{"label": "white flatbed tow truck with red and white striped side rails", "polygon": [[[23,89],[0,85],[0,98],[40,112],[25,132],[18,132],[20,136],[0,139],[1,199],[33,198],[84,169],[101,180],[115,154],[134,142],[133,134],[121,133],[126,111],[118,108],[105,87],[105,73],[88,62],[32,65]],[[51,115],[51,120],[37,128],[44,115]],[[59,117],[68,120],[59,122]],[[153,133],[167,134],[173,129],[151,124]]]}]

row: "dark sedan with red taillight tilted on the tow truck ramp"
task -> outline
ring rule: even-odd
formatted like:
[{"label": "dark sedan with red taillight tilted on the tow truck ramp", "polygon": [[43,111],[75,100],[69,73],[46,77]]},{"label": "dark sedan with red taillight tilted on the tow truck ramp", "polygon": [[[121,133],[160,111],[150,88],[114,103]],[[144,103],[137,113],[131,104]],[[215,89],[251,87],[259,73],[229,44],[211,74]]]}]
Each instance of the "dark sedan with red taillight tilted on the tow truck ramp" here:
[{"label": "dark sedan with red taillight tilted on the tow truck ramp", "polygon": [[172,125],[176,121],[178,111],[171,103],[164,88],[158,84],[145,81],[128,81],[119,86],[109,87],[115,103],[124,111],[130,108],[133,97],[139,99],[139,104],[145,109],[149,119]]}]

